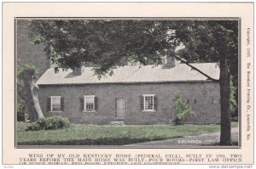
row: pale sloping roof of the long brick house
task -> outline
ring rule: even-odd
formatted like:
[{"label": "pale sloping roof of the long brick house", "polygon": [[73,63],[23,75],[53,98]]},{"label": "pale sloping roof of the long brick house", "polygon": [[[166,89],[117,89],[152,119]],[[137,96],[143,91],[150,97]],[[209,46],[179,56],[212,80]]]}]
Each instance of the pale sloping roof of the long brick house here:
[{"label": "pale sloping roof of the long brick house", "polygon": [[[191,64],[214,79],[219,78],[219,67],[216,63]],[[113,70],[113,76],[98,79],[93,67],[83,67],[82,75],[74,76],[72,70],[55,73],[54,68],[48,69],[38,79],[38,85],[92,84],[92,83],[135,83],[135,82],[197,82],[207,81],[207,77],[188,65],[176,64],[170,69],[162,69],[162,65],[124,66]]]}]

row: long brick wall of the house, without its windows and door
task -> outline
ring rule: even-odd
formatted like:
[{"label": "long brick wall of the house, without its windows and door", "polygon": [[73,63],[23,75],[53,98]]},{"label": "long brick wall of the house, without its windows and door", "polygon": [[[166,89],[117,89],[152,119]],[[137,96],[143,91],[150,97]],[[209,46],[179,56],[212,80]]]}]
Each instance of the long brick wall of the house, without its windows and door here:
[{"label": "long brick wall of the house, without its windows and door", "polygon": [[[109,124],[115,119],[115,97],[125,96],[125,124],[154,124],[173,121],[172,100],[180,93],[196,115],[187,119],[188,123],[219,123],[219,85],[216,82],[175,82],[148,84],[96,84],[39,86],[39,101],[44,115],[67,116],[74,123]],[[140,97],[155,94],[157,110],[143,112]],[[50,113],[49,96],[60,95],[64,108],[61,113]],[[97,97],[96,112],[83,112],[81,99],[84,95]],[[195,104],[196,99],[196,104]],[[213,99],[213,103],[212,103]]]}]

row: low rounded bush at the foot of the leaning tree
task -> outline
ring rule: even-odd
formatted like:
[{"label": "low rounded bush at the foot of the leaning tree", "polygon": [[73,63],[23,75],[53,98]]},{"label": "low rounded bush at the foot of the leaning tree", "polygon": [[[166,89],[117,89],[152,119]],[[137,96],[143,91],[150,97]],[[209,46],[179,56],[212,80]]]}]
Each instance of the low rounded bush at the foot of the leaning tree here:
[{"label": "low rounded bush at the foot of the leaning tree", "polygon": [[30,126],[26,127],[26,131],[56,130],[67,127],[71,127],[67,117],[51,116],[33,122]]}]

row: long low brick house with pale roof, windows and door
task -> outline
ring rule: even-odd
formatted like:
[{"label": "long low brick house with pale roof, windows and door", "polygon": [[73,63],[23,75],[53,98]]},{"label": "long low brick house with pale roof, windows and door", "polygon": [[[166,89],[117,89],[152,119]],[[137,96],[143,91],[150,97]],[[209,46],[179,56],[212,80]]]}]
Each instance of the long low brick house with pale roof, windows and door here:
[{"label": "long low brick house with pale roof, windows and door", "polygon": [[[168,63],[168,62],[167,62]],[[214,79],[216,63],[191,64]],[[187,123],[219,123],[219,84],[188,65],[123,66],[113,76],[98,79],[93,67],[59,71],[53,68],[38,79],[38,99],[45,116],[66,116],[74,123],[170,123],[172,100],[180,93],[196,112]]]}]

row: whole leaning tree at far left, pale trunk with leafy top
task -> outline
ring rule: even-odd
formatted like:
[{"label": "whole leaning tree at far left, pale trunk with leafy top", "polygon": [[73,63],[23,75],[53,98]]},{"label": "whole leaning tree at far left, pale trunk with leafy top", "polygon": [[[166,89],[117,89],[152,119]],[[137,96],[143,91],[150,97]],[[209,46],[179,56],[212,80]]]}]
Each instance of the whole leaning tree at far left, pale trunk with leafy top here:
[{"label": "whole leaning tree at far left, pale trunk with leafy top", "polygon": [[44,118],[38,101],[38,86],[35,84],[38,71],[33,65],[20,66],[17,73],[17,92],[26,103],[30,121]]}]

